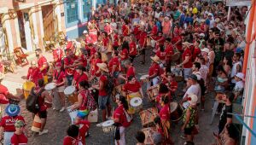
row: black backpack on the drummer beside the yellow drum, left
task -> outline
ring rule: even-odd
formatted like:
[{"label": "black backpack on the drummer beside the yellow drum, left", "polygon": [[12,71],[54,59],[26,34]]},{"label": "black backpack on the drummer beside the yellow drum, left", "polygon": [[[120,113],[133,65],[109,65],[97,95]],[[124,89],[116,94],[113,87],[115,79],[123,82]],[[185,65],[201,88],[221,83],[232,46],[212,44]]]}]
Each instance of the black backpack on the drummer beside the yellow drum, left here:
[{"label": "black backpack on the drummer beside the yellow drum, left", "polygon": [[34,92],[34,87],[30,91],[30,94],[26,98],[26,109],[31,113],[39,112],[38,97],[41,96],[44,89],[40,90],[38,94]]}]

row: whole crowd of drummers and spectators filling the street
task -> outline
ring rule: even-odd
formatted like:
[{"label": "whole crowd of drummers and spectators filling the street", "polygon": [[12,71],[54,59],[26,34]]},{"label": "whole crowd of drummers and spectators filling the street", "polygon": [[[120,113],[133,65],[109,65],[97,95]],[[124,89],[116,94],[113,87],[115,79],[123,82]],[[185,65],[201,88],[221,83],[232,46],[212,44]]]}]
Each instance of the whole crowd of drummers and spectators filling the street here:
[{"label": "whole crowd of drummers and spectators filling the street", "polygon": [[[214,133],[216,142],[235,145],[239,136],[232,124],[232,104],[242,102],[247,10],[246,6],[232,7],[228,14],[223,2],[169,0],[149,3],[124,0],[116,5],[107,3],[92,8],[83,32],[83,47],[77,48],[70,40],[53,47],[51,75],[42,49],[35,51],[37,61],[31,62],[26,79],[35,84],[33,92],[38,96],[38,111],[33,114],[42,121],[39,135],[48,132],[44,129],[49,108],[45,101],[52,102],[53,93],[44,90],[44,85],[52,78],[61,103],[60,112],[67,107],[64,90],[67,86],[76,88],[77,102],[71,110],[78,110],[78,114],[67,129],[64,145],[85,144],[90,129],[87,117],[96,108],[102,113],[101,123],[96,126],[102,127],[106,120],[113,120],[114,143],[125,145],[125,129],[132,126],[132,116],[137,113],[131,104],[134,96],[147,97],[158,110],[153,120],[154,144],[174,144],[170,103],[181,100],[178,104],[183,110],[180,120],[184,144],[194,144],[200,128],[199,112],[206,109],[209,92],[225,102],[218,106],[221,114],[218,133]],[[146,77],[140,80],[133,63],[139,60],[140,65],[145,65],[147,57],[152,63]],[[177,82],[183,82],[179,92]],[[9,94],[3,84],[0,87],[0,93],[7,98],[20,99]],[[156,95],[151,93],[155,88]],[[112,112],[113,105],[117,107]],[[0,124],[4,142],[27,142],[23,133],[26,124],[19,115],[19,106],[4,107],[7,116]],[[143,131],[137,131],[137,144],[143,145],[145,137]]]}]

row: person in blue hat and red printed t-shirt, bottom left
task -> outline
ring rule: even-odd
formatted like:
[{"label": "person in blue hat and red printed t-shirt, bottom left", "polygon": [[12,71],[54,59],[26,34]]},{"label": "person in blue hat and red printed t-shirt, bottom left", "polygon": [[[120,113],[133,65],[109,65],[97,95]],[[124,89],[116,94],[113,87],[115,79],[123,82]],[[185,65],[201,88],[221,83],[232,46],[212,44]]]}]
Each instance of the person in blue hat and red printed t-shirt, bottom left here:
[{"label": "person in blue hat and red printed t-shirt, bottom left", "polygon": [[3,144],[10,144],[10,139],[15,133],[15,122],[17,120],[22,120],[25,122],[24,118],[19,115],[20,107],[15,104],[10,104],[5,108],[4,116],[0,122],[0,140],[3,139]]}]

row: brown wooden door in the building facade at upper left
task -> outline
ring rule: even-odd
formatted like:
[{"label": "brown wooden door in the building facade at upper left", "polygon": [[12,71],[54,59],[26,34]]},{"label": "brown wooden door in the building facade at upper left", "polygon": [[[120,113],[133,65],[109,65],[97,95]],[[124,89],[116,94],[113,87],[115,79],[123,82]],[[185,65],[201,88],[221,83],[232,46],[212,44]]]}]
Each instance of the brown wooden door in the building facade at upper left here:
[{"label": "brown wooden door in the building facade at upper left", "polygon": [[42,7],[44,38],[52,38],[55,36],[55,19],[53,5]]}]

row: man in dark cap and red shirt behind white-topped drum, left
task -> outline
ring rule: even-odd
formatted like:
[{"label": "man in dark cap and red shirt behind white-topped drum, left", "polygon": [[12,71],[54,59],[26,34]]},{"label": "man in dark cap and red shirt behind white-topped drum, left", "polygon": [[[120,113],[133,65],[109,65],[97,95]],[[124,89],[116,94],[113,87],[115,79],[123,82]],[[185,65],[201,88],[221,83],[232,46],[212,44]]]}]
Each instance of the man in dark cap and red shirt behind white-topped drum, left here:
[{"label": "man in dark cap and red shirt behind white-topped drum, left", "polygon": [[79,90],[79,83],[82,81],[88,81],[88,76],[85,72],[85,68],[83,66],[76,67],[76,73],[73,76],[73,86],[76,86],[77,90]]}]

